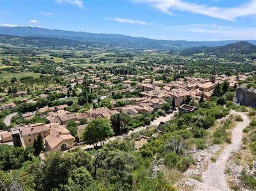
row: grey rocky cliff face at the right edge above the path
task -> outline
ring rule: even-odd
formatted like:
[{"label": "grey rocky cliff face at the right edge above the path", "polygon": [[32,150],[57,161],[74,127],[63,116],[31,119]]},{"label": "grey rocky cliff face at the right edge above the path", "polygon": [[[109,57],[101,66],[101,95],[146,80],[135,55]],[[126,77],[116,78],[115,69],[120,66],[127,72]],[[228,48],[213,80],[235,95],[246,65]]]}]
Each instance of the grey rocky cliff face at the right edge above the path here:
[{"label": "grey rocky cliff face at the right edge above the path", "polygon": [[237,88],[237,95],[234,101],[240,105],[256,107],[256,89],[248,89],[246,84],[242,84]]}]

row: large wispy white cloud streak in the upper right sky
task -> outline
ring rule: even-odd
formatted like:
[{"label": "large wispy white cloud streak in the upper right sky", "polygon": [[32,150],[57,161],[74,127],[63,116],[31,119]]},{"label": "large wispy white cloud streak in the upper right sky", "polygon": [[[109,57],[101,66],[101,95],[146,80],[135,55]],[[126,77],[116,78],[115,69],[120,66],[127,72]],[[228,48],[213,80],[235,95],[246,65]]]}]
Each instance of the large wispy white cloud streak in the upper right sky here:
[{"label": "large wispy white cloud streak in the upper right sky", "polygon": [[237,17],[245,17],[256,15],[255,4],[256,0],[244,3],[233,8],[220,8],[216,6],[207,6],[205,4],[190,3],[182,0],[133,0],[138,3],[149,3],[153,8],[156,8],[164,13],[172,15],[171,11],[187,11],[198,13],[214,18],[234,20]]}]

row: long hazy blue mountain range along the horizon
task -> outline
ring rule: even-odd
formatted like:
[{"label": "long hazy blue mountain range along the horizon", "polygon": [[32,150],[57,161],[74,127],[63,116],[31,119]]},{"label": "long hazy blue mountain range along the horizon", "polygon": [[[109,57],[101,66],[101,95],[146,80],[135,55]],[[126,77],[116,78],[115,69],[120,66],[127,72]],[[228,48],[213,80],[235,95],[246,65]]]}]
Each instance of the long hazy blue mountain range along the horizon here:
[{"label": "long hazy blue mountain range along the horizon", "polygon": [[[0,34],[19,37],[47,37],[72,40],[68,44],[80,44],[100,48],[123,49],[156,49],[156,50],[180,50],[194,47],[216,47],[241,40],[224,41],[185,41],[185,40],[154,40],[142,37],[130,37],[122,34],[95,34],[88,32],[73,32],[62,30],[50,30],[39,27],[5,27],[0,26]],[[56,40],[56,39],[55,39]],[[243,40],[256,45],[256,40]],[[79,42],[79,43],[78,43]],[[64,42],[63,42],[64,43]],[[68,45],[69,46],[69,45]]]}]

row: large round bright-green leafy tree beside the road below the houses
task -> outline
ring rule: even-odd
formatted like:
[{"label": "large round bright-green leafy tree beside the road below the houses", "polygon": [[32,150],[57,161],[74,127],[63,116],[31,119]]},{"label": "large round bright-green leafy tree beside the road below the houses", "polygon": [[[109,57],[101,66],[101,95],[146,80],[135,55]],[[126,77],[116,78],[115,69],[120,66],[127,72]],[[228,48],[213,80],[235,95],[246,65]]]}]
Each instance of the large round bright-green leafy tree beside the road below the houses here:
[{"label": "large round bright-green leafy tree beside the road below the houses", "polygon": [[100,145],[104,144],[106,138],[113,136],[113,130],[110,126],[109,119],[96,118],[90,121],[86,126],[83,133],[83,138],[86,142],[93,144],[97,147],[98,142]]}]

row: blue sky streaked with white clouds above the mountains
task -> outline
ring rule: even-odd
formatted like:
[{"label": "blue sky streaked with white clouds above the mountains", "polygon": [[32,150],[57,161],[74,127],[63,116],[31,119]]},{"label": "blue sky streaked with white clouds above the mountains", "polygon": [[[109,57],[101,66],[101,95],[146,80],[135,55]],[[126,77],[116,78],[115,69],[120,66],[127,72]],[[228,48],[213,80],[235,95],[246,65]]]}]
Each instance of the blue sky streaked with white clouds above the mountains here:
[{"label": "blue sky streaked with white clouds above the mountains", "polygon": [[256,0],[1,0],[0,25],[166,40],[256,39]]}]

